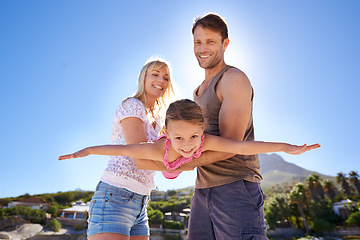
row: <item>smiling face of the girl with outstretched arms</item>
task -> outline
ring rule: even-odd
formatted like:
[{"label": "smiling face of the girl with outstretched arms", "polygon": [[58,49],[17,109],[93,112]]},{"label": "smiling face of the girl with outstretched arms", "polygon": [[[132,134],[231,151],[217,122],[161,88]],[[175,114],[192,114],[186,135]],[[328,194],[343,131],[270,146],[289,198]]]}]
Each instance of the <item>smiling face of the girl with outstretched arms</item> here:
[{"label": "smiling face of the girl with outstretched arms", "polygon": [[198,124],[184,120],[171,120],[166,129],[166,136],[171,147],[183,157],[191,157],[201,145],[204,129]]}]

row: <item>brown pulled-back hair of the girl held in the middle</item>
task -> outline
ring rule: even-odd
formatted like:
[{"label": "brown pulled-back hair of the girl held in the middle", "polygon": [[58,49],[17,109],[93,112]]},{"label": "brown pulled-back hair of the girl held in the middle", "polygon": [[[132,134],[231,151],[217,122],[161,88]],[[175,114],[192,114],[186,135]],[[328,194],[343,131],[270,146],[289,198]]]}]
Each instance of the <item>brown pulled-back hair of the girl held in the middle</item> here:
[{"label": "brown pulled-back hair of the girl held in the middle", "polygon": [[170,120],[184,120],[205,128],[205,120],[200,106],[190,99],[177,100],[166,111],[165,127]]}]

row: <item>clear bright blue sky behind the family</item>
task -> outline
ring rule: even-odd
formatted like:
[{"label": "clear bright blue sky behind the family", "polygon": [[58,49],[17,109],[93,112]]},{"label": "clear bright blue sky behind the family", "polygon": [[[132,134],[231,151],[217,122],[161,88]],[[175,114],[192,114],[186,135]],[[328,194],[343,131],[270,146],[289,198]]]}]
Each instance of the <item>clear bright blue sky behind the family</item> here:
[{"label": "clear bright blue sky behind the family", "polygon": [[[110,143],[114,113],[151,56],[171,62],[182,97],[204,79],[191,27],[229,26],[226,63],[255,89],[257,140],[322,147],[280,154],[335,176],[360,170],[360,1],[0,1],[0,197],[94,190],[108,157],[58,161]],[[160,190],[193,186],[194,171]]]}]

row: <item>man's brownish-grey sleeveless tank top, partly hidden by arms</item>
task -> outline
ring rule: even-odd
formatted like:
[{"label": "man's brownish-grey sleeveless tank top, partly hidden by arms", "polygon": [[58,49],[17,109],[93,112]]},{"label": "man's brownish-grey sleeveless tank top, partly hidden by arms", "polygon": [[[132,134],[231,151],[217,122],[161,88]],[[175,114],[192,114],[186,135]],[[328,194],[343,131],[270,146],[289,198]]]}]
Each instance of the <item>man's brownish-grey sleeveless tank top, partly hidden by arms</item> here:
[{"label": "man's brownish-grey sleeveless tank top, partly hidden by arms", "polygon": [[[206,121],[205,133],[219,136],[219,111],[221,101],[216,95],[216,85],[231,66],[226,66],[211,81],[207,89],[201,96],[198,96],[199,87],[195,90],[194,101],[201,107]],[[231,86],[229,86],[231,87]],[[253,91],[253,90],[252,90]],[[252,116],[251,97],[251,115],[245,131],[243,141],[254,141],[254,125]],[[260,162],[258,155],[235,155],[226,160],[218,161],[206,166],[197,168],[196,188],[210,188],[232,183],[238,180],[247,180],[250,182],[260,182]]]}]

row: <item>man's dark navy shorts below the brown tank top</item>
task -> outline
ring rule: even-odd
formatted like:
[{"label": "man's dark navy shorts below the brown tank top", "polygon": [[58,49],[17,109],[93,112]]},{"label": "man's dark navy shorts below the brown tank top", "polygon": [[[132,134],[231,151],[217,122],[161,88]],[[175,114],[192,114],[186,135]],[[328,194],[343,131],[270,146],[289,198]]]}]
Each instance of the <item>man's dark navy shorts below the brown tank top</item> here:
[{"label": "man's dark navy shorts below the brown tank top", "polygon": [[187,239],[268,239],[260,184],[240,180],[195,189]]}]

